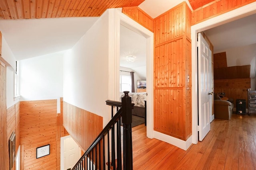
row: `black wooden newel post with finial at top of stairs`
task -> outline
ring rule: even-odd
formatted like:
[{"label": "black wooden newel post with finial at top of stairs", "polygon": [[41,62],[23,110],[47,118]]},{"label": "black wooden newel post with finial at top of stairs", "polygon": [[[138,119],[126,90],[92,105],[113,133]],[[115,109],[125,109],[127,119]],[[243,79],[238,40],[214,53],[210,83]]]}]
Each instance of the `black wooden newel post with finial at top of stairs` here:
[{"label": "black wooden newel post with finial at top of stairs", "polygon": [[124,128],[124,170],[132,170],[132,98],[128,91],[122,97],[122,123]]}]

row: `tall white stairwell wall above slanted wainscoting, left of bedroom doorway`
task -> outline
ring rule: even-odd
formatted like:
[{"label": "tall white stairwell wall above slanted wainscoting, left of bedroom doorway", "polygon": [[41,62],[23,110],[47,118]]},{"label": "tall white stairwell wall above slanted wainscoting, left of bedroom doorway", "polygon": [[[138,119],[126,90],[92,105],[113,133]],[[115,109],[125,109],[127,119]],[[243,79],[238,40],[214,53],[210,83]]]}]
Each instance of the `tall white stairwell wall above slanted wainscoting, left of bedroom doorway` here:
[{"label": "tall white stairwell wall above slanted wainscoting, left of bedroom doorway", "polygon": [[[108,122],[108,10],[64,57],[63,100]],[[106,118],[106,119],[105,119]]]}]

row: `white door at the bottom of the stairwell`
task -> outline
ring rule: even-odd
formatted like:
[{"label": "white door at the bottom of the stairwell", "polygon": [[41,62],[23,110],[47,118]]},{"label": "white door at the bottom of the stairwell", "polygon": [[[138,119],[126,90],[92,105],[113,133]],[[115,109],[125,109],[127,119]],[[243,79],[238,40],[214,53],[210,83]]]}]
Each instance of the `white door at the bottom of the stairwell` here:
[{"label": "white door at the bottom of the stairwell", "polygon": [[61,138],[61,170],[73,168],[81,157],[81,149],[71,136]]}]

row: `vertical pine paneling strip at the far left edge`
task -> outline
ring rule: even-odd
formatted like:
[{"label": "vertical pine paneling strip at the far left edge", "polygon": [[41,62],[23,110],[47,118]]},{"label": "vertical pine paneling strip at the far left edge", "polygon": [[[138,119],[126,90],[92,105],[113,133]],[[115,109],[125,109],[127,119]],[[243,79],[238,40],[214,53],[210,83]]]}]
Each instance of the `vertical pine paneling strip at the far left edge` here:
[{"label": "vertical pine paneling strip at the far left edge", "polygon": [[9,169],[6,122],[6,66],[0,60],[0,170]]}]

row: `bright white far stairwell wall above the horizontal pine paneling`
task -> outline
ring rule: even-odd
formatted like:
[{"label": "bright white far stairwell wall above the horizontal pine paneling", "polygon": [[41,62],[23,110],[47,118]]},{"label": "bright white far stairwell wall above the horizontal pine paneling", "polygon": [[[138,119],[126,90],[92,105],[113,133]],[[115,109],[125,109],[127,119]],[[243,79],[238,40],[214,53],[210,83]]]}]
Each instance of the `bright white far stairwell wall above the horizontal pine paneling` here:
[{"label": "bright white far stairwell wall above the horizontal pine paneling", "polygon": [[21,101],[59,99],[63,93],[66,51],[20,61]]}]

